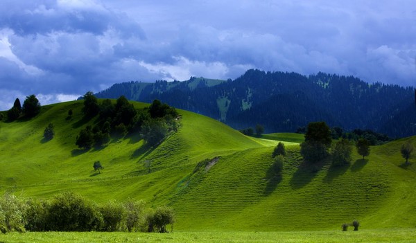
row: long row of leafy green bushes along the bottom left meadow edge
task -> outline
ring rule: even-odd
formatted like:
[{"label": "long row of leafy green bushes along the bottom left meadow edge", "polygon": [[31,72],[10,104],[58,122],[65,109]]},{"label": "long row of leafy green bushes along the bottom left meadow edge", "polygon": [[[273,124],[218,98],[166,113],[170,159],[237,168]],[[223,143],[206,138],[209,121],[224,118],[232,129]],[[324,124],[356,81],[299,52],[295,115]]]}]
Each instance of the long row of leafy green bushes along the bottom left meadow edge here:
[{"label": "long row of leafy green bushes along the bottom left meadow edge", "polygon": [[0,230],[10,231],[143,231],[167,232],[173,225],[172,208],[146,208],[144,201],[128,199],[95,204],[73,192],[51,200],[0,198]]}]

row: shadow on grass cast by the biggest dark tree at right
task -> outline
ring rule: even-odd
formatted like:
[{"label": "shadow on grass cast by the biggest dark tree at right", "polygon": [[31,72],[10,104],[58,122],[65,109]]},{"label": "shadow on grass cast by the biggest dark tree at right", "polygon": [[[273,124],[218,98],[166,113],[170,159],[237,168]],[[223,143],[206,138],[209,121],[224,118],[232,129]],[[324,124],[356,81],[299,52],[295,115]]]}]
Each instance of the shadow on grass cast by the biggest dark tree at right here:
[{"label": "shadow on grass cast by the biggest dark tree at right", "polygon": [[293,177],[290,182],[291,187],[293,189],[299,189],[309,184],[309,182],[312,181],[313,177],[315,177],[315,175],[318,174],[318,172],[325,165],[326,161],[326,159],[318,163],[308,163],[306,161],[303,161],[297,168],[295,174],[293,174]]}]

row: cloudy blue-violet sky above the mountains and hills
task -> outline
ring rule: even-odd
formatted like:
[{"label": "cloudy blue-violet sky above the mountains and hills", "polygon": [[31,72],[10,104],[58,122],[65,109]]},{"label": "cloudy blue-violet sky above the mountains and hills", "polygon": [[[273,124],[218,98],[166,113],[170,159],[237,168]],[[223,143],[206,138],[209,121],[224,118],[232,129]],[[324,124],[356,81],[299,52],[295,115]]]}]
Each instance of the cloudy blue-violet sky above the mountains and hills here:
[{"label": "cloudy blue-violet sky above the mountains and hills", "polygon": [[0,1],[0,110],[248,69],[416,86],[413,0]]}]

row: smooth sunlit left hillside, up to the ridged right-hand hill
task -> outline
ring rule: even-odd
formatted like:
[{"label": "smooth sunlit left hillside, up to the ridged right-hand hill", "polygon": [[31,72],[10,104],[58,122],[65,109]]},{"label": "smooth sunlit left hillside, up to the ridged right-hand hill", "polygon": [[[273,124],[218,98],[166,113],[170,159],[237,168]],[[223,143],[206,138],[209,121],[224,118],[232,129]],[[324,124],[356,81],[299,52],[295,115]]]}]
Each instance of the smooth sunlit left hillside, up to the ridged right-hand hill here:
[{"label": "smooth sunlit left hillside, up to the ridged right-hand hill", "polygon": [[[135,106],[146,105],[135,102]],[[172,185],[200,160],[266,143],[211,118],[180,111],[179,132],[155,149],[132,134],[112,138],[106,147],[84,151],[76,147],[76,136],[95,120],[84,120],[82,107],[82,102],[64,102],[43,107],[31,120],[0,123],[2,190],[49,197],[70,189],[96,200],[135,197],[158,201],[158,195],[165,195],[161,200],[168,202]],[[71,118],[69,109],[73,110]],[[50,122],[55,125],[55,137],[45,141],[43,131]],[[94,161],[101,161],[105,167],[102,174],[94,172]]]}]

